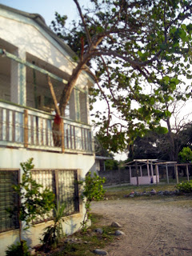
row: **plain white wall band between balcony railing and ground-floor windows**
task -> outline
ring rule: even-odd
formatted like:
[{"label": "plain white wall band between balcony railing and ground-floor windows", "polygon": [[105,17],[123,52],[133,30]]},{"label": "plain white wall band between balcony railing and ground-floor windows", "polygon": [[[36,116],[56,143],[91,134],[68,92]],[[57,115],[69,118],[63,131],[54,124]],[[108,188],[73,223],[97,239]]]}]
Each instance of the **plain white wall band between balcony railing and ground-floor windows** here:
[{"label": "plain white wall band between balcony railing and ground-floor windows", "polygon": [[20,162],[34,158],[34,166],[39,169],[81,169],[82,177],[94,165],[94,155],[61,154],[26,149],[0,148],[0,168],[20,168]]}]

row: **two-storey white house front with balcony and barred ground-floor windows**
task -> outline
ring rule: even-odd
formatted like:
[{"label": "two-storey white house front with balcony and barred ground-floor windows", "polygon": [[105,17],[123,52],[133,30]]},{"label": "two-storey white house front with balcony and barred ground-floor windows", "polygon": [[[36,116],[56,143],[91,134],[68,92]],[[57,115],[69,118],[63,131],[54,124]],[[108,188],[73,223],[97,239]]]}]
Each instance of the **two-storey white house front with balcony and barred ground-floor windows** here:
[{"label": "two-storey white house front with balcony and barred ground-floor windows", "polygon": [[[0,5],[0,255],[18,241],[18,218],[6,209],[17,203],[12,186],[22,178],[20,162],[34,158],[33,177],[66,202],[64,232],[79,229],[84,205],[79,196],[82,180],[94,164],[88,90],[94,80],[82,72],[62,117],[62,132],[54,141],[53,94],[59,102],[76,65],[74,52],[38,14]],[[31,247],[39,243],[39,221],[23,232]]]}]

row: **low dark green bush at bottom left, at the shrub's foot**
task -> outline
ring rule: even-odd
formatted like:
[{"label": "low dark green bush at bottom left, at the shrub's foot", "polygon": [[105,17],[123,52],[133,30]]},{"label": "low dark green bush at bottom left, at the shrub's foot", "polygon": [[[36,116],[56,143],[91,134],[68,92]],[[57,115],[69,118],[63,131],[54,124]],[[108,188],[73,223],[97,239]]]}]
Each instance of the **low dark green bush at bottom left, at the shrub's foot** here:
[{"label": "low dark green bush at bottom left, at the shrub's foot", "polygon": [[30,256],[26,241],[17,242],[16,244],[8,246],[6,256]]}]

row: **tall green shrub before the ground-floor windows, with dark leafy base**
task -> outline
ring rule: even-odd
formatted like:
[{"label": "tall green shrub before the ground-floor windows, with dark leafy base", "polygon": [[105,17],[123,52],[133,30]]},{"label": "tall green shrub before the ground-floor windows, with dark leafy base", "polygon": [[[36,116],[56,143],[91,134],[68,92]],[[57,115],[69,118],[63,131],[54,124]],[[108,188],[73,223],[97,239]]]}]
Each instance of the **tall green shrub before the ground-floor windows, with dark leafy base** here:
[{"label": "tall green shrub before the ground-floor windows, with dark leafy base", "polygon": [[49,189],[42,190],[42,185],[38,184],[31,174],[31,170],[34,168],[32,164],[33,158],[30,158],[27,162],[22,162],[22,182],[17,186],[13,186],[14,193],[18,194],[19,202],[18,206],[14,206],[13,209],[8,209],[10,216],[14,214],[14,211],[18,212],[19,221],[19,240],[16,245],[12,244],[6,251],[7,256],[28,256],[26,241],[22,240],[22,222],[26,223],[24,230],[33,226],[33,221],[39,215],[43,216],[50,213],[50,210],[54,207],[54,193]]}]

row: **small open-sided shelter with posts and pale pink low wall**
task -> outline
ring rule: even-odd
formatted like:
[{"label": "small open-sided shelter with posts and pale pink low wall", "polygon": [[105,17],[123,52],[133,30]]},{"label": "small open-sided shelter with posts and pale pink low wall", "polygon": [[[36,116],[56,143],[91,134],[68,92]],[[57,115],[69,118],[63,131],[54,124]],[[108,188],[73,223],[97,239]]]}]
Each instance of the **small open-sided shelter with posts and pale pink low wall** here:
[{"label": "small open-sided shelter with posts and pale pink low wall", "polygon": [[[127,162],[125,165],[130,169],[130,184],[131,185],[148,185],[151,183],[159,183],[159,166],[166,167],[166,178],[169,183],[168,167],[176,165],[177,162],[166,162],[158,159],[134,159],[131,162]],[[146,170],[147,175],[143,175],[143,170]],[[133,171],[135,175],[133,175]],[[145,173],[146,173],[145,172]],[[178,174],[176,172],[176,178],[178,182]]]}]

